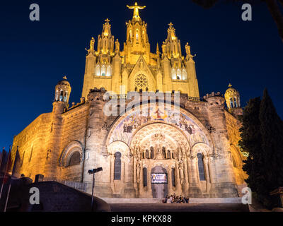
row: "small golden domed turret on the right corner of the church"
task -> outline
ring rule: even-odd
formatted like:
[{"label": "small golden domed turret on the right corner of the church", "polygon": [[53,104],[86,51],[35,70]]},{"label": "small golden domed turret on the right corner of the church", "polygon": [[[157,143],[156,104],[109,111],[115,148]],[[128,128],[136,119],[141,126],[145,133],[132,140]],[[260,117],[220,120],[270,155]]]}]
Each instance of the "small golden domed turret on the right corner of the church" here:
[{"label": "small golden domed turret on the right corner of the church", "polygon": [[225,92],[226,105],[229,112],[234,115],[243,114],[243,109],[241,108],[240,93],[238,90],[232,87],[231,83],[228,85],[228,89]]}]

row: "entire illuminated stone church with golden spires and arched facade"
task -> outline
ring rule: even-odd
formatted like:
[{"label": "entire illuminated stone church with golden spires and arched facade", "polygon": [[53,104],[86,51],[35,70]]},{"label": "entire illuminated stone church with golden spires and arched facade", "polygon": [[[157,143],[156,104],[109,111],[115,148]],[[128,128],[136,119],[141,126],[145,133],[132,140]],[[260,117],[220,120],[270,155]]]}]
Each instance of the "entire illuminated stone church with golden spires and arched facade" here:
[{"label": "entire illuminated stone church with golden spires and arched facade", "polygon": [[[106,19],[97,42],[92,38],[86,49],[81,102],[69,105],[71,85],[64,77],[55,86],[52,112],[14,137],[18,174],[84,183],[91,193],[88,169],[103,167],[94,189],[100,197],[238,196],[246,177],[238,148],[238,91],[229,85],[225,98],[221,93],[200,98],[190,45],[182,54],[169,23],[161,52],[158,44],[152,52],[139,16],[145,6],[127,7],[134,13],[122,47]],[[128,107],[134,92],[159,102],[143,99]],[[110,102],[119,114],[105,114]]]}]

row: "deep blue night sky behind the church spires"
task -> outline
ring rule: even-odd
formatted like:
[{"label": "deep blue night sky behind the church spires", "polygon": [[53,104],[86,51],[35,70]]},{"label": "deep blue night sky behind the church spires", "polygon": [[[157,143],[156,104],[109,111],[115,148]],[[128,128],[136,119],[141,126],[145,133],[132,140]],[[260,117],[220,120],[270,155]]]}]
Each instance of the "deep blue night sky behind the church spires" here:
[{"label": "deep blue night sky behind the church spires", "polygon": [[[40,21],[29,20],[29,6],[40,5]],[[89,41],[110,19],[112,35],[122,50],[126,5],[134,1],[1,1],[0,3],[0,145],[8,149],[13,136],[37,116],[52,111],[54,86],[63,76],[71,83],[71,102],[79,102]],[[189,42],[195,57],[200,95],[239,90],[241,103],[267,88],[283,118],[283,43],[264,3],[253,5],[253,20],[241,20],[241,4],[204,9],[192,1],[138,1],[148,23],[151,52],[166,39],[172,22],[183,53]]]}]

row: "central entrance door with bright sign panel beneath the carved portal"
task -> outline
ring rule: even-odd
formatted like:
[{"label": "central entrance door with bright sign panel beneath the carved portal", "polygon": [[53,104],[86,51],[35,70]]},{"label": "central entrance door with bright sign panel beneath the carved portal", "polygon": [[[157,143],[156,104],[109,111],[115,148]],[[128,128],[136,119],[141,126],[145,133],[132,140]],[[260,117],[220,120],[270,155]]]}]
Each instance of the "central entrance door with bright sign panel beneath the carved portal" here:
[{"label": "central entrance door with bright sign panel beneath the carved portal", "polygon": [[168,194],[166,169],[156,166],[151,169],[151,190],[153,198],[165,198]]}]

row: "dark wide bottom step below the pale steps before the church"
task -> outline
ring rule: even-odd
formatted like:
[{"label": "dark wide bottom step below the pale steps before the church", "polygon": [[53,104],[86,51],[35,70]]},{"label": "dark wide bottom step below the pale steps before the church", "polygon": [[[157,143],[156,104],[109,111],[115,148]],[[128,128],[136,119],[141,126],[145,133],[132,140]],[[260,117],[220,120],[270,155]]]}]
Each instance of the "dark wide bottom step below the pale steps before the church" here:
[{"label": "dark wide bottom step below the pale steps before the church", "polygon": [[240,203],[111,203],[111,212],[249,212]]}]

